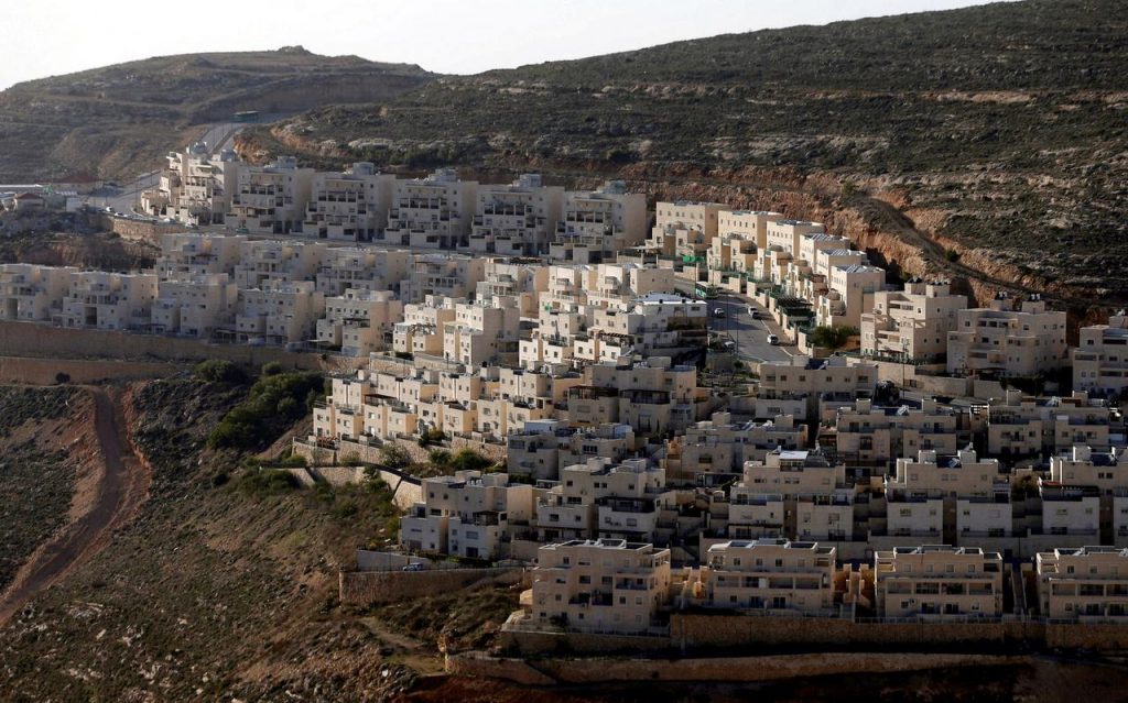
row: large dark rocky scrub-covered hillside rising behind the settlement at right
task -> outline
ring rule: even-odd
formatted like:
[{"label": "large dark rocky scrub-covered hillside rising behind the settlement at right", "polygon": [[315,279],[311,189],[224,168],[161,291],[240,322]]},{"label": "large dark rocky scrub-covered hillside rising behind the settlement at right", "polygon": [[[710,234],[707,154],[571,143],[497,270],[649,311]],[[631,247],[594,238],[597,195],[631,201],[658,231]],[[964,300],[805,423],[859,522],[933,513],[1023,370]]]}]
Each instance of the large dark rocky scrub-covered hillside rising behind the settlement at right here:
[{"label": "large dark rocky scrub-covered hillside rising behind the settlement at right", "polygon": [[240,148],[616,175],[654,197],[820,217],[906,273],[1084,312],[1128,300],[1122,10],[1026,0],[447,78]]}]

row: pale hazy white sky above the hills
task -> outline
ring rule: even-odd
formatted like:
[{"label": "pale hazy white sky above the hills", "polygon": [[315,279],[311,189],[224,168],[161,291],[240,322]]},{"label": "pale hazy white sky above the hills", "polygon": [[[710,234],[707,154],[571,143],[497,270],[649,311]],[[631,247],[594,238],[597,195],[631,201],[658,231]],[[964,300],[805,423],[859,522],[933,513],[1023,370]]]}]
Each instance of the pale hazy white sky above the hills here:
[{"label": "pale hazy white sky above the hills", "polygon": [[[0,88],[167,54],[301,44],[477,73],[677,39],[982,0],[54,0],[8,8]],[[191,14],[190,14],[191,12]]]}]

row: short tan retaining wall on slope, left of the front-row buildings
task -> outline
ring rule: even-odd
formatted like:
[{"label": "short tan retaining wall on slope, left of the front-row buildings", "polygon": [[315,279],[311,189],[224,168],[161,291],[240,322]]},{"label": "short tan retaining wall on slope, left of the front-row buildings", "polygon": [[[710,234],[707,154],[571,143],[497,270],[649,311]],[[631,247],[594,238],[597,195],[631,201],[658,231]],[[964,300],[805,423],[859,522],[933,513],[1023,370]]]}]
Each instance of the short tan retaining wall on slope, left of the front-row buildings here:
[{"label": "short tan retaining wall on slope, left of the front-row buildings", "polygon": [[523,579],[525,570],[446,569],[434,571],[341,571],[341,602],[351,605],[391,603],[418,597],[420,594],[444,594],[474,584],[513,585]]}]

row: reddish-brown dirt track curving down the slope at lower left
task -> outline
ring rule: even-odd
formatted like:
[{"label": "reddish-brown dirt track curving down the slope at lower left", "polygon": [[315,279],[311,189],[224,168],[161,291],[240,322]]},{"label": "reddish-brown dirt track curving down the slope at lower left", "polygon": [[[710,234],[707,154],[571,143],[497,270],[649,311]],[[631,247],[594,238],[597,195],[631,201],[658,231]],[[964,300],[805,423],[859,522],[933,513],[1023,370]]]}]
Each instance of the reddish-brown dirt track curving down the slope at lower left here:
[{"label": "reddish-brown dirt track curving down the slope at lower left", "polygon": [[133,518],[148,495],[151,474],[129,441],[122,391],[96,386],[88,390],[95,402],[95,433],[102,459],[96,469],[96,490],[92,499],[72,510],[72,515],[78,513],[74,519],[35,550],[0,596],[0,625],[76,566],[105,549],[114,531]]}]

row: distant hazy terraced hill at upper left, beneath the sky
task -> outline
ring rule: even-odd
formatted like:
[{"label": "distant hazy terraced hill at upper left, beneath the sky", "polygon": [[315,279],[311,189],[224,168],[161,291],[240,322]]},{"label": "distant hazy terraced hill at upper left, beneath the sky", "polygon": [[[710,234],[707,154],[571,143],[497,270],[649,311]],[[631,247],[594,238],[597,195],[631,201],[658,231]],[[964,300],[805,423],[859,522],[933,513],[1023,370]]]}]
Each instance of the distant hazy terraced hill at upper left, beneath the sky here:
[{"label": "distant hazy terraced hill at upper left, beneath the sky", "polygon": [[79,171],[132,178],[238,110],[384,100],[431,78],[415,65],[287,47],[161,56],[28,81],[0,92],[0,181]]}]

